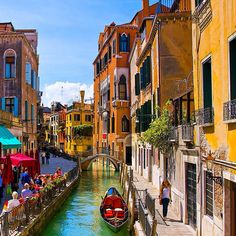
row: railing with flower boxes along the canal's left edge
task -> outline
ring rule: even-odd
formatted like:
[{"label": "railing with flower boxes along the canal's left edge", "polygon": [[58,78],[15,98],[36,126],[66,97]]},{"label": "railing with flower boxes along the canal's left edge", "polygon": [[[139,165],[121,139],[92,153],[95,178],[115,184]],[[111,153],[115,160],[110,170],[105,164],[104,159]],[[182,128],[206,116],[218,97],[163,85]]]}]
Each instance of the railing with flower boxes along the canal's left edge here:
[{"label": "railing with flower boxes along the canal's left edge", "polygon": [[18,235],[21,229],[27,227],[29,222],[36,218],[71,182],[78,177],[78,168],[64,174],[47,184],[39,194],[27,198],[24,203],[0,215],[0,235]]}]

